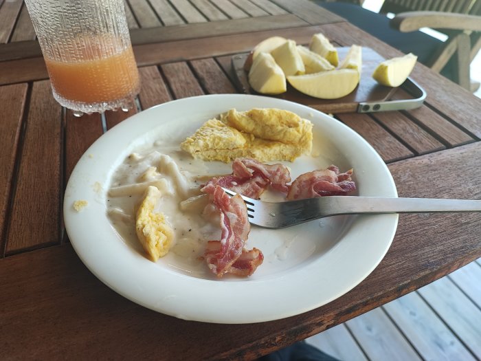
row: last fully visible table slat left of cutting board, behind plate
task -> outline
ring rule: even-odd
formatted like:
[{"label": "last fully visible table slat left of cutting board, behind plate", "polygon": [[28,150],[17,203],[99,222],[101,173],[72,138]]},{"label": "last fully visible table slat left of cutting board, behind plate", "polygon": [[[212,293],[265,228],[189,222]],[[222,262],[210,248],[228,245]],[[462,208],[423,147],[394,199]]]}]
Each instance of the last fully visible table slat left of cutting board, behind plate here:
[{"label": "last fully visible table slat left of cutting board, behind plate", "polygon": [[212,58],[191,61],[199,82],[208,94],[235,93],[236,89]]}]

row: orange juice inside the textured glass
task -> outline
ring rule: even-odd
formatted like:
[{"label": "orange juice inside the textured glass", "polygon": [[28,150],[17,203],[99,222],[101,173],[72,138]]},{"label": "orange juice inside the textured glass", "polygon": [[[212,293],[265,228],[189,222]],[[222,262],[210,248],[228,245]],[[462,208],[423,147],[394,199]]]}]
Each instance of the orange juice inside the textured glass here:
[{"label": "orange juice inside the textured glass", "polygon": [[108,56],[85,56],[77,61],[45,64],[58,96],[85,103],[109,102],[133,98],[139,91],[139,73],[132,47]]}]

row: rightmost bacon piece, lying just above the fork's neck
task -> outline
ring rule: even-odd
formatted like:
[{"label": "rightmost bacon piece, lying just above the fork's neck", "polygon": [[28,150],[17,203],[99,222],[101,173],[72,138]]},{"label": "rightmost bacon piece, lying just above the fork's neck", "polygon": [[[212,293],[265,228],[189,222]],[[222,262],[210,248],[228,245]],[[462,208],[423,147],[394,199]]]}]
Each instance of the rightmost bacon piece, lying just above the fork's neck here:
[{"label": "rightmost bacon piece, lying just above the fork's neck", "polygon": [[289,193],[287,193],[287,199],[346,195],[356,189],[351,175],[353,175],[352,169],[345,173],[339,173],[337,166],[329,166],[327,169],[304,173],[292,182]]}]

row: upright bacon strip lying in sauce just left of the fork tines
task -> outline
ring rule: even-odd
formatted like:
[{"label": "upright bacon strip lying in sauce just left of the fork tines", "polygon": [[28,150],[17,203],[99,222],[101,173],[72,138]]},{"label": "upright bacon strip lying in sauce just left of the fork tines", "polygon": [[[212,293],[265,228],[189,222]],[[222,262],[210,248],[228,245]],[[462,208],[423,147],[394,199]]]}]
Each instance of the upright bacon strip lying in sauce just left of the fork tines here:
[{"label": "upright bacon strip lying in sauce just left of the fork tines", "polygon": [[221,211],[221,241],[218,241],[221,247],[216,250],[216,247],[213,247],[215,243],[209,242],[205,260],[210,270],[221,277],[230,271],[242,254],[250,232],[250,223],[247,219],[247,208],[239,195],[230,198],[221,187],[216,186],[213,201]]}]

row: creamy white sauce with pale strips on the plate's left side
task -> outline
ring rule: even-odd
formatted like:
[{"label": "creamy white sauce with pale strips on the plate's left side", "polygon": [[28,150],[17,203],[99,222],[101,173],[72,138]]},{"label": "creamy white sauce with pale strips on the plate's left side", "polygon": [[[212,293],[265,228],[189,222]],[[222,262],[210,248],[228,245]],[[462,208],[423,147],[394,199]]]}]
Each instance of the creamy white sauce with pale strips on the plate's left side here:
[{"label": "creamy white sauce with pale strips on the plate's left side", "polygon": [[190,272],[192,267],[202,267],[205,242],[220,239],[219,215],[204,211],[208,198],[199,190],[212,175],[208,175],[203,162],[190,155],[172,150],[168,153],[150,149],[126,157],[113,173],[107,215],[123,241],[144,252],[135,234],[135,212],[146,188],[157,186],[162,197],[155,212],[164,213],[175,234],[170,253],[179,256]]}]

